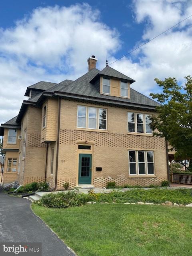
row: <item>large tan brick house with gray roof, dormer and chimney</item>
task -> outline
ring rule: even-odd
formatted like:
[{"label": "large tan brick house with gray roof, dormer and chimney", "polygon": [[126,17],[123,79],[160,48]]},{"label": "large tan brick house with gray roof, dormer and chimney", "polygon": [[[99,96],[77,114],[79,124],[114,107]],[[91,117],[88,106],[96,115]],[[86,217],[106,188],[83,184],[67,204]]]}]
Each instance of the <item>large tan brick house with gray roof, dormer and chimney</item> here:
[{"label": "large tan brick house with gray roof, dormer and chimney", "polygon": [[[29,86],[18,116],[0,127],[4,183],[48,181],[61,189],[87,185],[160,184],[167,180],[164,138],[153,137],[154,100],[130,88],[132,78],[106,66],[59,84]],[[142,86],[142,85],[141,85]]]}]

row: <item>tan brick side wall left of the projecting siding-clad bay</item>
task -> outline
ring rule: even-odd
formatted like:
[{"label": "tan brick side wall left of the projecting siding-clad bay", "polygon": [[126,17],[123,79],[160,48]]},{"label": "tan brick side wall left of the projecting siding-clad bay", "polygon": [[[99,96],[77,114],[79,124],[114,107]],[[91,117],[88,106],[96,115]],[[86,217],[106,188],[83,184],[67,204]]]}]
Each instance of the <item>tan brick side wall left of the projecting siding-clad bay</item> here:
[{"label": "tan brick side wall left of the projecting siding-clad bay", "polygon": [[[40,142],[42,109],[29,106],[22,118],[22,140],[20,141],[19,152],[21,152],[20,173],[18,182],[26,184],[33,181],[44,181],[46,144]],[[22,159],[24,130],[26,129],[26,153]]]}]

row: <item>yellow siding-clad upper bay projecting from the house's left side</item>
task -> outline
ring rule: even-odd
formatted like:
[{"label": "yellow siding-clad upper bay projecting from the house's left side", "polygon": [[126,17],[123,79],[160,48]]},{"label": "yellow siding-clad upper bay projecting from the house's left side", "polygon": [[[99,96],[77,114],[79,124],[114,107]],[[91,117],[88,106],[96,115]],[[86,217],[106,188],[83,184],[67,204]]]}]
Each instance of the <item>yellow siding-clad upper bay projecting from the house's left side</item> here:
[{"label": "yellow siding-clad upper bay projecting from the house's left side", "polygon": [[46,127],[42,128],[41,142],[56,141],[57,122],[58,122],[58,100],[48,99],[44,102],[46,105]]}]

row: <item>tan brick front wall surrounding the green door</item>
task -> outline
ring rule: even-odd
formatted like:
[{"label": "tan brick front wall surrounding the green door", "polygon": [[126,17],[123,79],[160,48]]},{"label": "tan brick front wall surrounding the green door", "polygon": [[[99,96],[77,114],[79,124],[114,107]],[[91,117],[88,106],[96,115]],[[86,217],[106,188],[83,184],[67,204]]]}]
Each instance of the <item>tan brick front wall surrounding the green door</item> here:
[{"label": "tan brick front wall surrounding the green door", "polygon": [[[78,185],[78,143],[92,143],[92,184],[106,186],[109,180],[116,184],[160,184],[167,179],[166,146],[163,138],[128,134],[125,108],[106,107],[108,110],[108,133],[76,129],[77,105],[69,100],[61,102],[60,145],[58,154],[58,189],[69,181]],[[90,106],[90,104],[82,104]],[[101,105],[91,106],[101,107]],[[147,112],[149,113],[149,112]],[[132,178],[129,176],[128,150],[154,151],[155,175]],[[87,152],[88,153],[88,152]],[[102,171],[96,172],[96,166]]]}]

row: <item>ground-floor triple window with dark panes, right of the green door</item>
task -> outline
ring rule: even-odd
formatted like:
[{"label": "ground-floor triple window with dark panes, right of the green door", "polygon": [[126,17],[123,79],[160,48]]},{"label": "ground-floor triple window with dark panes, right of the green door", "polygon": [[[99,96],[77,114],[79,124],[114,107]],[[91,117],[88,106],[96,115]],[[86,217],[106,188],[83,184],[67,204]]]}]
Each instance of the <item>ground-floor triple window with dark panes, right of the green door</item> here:
[{"label": "ground-floor triple window with dark panes, right of the green door", "polygon": [[154,152],[129,150],[130,175],[154,175]]}]

